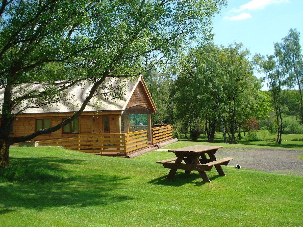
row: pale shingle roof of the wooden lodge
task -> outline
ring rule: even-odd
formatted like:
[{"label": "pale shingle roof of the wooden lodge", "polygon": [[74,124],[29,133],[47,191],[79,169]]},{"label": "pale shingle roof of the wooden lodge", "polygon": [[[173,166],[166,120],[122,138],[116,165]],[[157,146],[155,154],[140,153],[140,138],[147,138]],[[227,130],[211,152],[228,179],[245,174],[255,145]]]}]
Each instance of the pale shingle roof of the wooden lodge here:
[{"label": "pale shingle roof of the wooden lodge", "polygon": [[[115,99],[111,95],[106,95],[106,97],[103,95],[96,95],[93,97],[87,106],[85,107],[85,112],[96,112],[96,111],[123,111],[125,110],[128,101],[130,100],[133,92],[135,91],[135,88],[139,84],[139,82],[142,82],[143,87],[146,90],[147,98],[151,102],[152,112],[155,112],[156,107],[153,102],[153,100],[150,97],[150,94],[147,90],[146,84],[142,78],[142,76],[138,76],[135,78],[114,78],[114,77],[108,77],[105,79],[105,81],[102,84],[108,84],[110,86],[110,90],[103,89],[101,87],[100,90],[98,90],[99,93],[104,93],[108,91],[117,91],[117,88],[123,88],[123,94],[120,99]],[[102,86],[102,85],[101,85]],[[91,89],[92,85],[90,85],[88,82],[83,84],[82,86],[73,86],[68,89],[66,89],[66,96],[64,99],[61,99],[58,103],[46,105],[43,107],[38,108],[28,108],[24,110],[22,113],[62,113],[62,112],[75,112],[78,111],[84,102],[85,98],[87,97],[87,94],[89,90]],[[34,87],[32,87],[34,89]],[[4,89],[0,90],[0,104],[3,103],[3,93]],[[95,94],[97,91],[95,92]],[[14,94],[12,94],[14,96]],[[33,100],[31,103],[22,103],[16,108],[14,111],[15,113],[17,110],[21,110],[26,106],[26,104],[29,104],[29,106],[33,106],[35,104],[35,100]],[[2,109],[2,108],[1,108]]]}]

